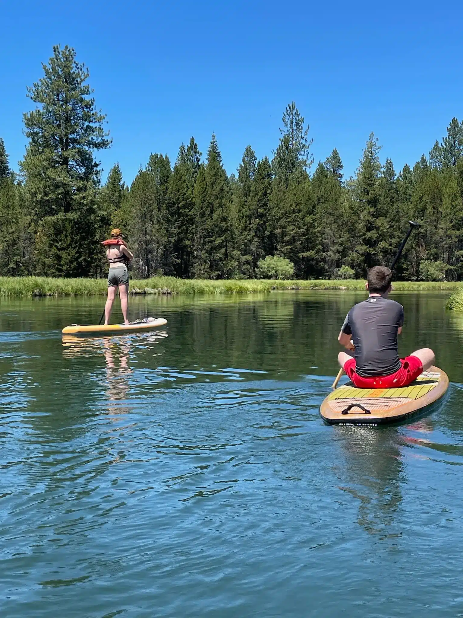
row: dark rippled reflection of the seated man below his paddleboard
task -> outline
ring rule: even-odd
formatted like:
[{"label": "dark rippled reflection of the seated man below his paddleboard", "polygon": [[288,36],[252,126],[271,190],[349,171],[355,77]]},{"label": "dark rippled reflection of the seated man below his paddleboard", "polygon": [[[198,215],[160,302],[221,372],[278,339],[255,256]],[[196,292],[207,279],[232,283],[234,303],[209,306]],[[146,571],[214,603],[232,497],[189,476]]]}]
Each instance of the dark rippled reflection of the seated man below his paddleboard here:
[{"label": "dark rippled reflection of the seated man below his paddleboard", "polygon": [[[402,500],[402,437],[396,428],[338,427],[343,436],[340,489],[359,500],[357,519],[370,534],[389,532]],[[348,481],[348,485],[345,485]]]}]

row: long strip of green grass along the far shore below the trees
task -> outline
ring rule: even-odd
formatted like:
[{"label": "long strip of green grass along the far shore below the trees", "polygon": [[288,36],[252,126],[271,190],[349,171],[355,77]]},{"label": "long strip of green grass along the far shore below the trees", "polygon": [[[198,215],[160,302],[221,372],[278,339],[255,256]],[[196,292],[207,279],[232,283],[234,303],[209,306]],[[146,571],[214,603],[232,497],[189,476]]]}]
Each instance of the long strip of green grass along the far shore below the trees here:
[{"label": "long strip of green grass along the far shore below the trees", "polygon": [[[453,290],[463,305],[461,284],[455,282],[397,281],[396,290]],[[267,279],[211,281],[152,277],[131,279],[131,294],[246,294],[271,290],[364,290],[363,279],[346,281],[272,281]],[[106,294],[106,279],[54,279],[52,277],[0,277],[0,297],[96,296]],[[458,290],[458,291],[457,291]]]}]

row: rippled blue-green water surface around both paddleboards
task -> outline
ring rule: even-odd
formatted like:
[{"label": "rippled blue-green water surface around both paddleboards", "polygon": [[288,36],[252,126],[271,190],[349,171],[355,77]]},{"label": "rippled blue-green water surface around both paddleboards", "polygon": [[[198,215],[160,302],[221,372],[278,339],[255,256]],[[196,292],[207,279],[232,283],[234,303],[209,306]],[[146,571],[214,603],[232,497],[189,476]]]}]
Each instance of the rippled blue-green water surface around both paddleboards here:
[{"label": "rippled blue-green water surface around both paddleboards", "polygon": [[136,297],[167,326],[82,339],[104,299],[2,300],[0,615],[463,616],[463,318],[393,293],[446,399],[326,426],[363,297]]}]

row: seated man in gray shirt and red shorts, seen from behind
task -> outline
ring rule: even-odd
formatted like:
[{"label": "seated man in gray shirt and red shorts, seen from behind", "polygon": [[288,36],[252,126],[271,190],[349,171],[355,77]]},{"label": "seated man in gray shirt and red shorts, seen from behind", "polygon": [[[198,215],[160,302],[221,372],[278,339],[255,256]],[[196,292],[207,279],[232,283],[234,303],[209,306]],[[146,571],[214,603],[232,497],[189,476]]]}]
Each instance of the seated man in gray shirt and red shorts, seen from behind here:
[{"label": "seated man in gray shirt and red shorts, seen from behind", "polygon": [[391,281],[389,268],[370,269],[365,284],[369,297],[352,307],[338,337],[341,345],[354,350],[354,358],[340,352],[338,362],[359,388],[407,386],[435,360],[429,348],[399,358],[397,336],[404,324],[404,308],[388,298]]}]

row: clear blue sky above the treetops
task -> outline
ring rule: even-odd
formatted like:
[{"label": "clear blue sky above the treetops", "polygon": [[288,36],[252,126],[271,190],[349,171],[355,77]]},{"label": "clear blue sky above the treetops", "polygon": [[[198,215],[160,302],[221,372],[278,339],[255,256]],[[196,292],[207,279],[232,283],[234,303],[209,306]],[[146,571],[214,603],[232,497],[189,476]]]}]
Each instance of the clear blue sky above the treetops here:
[{"label": "clear blue sky above the treetops", "polygon": [[[463,2],[0,2],[0,137],[22,158],[26,86],[52,45],[90,69],[115,161],[130,182],[151,152],[172,162],[214,131],[233,172],[248,143],[278,144],[291,100],[310,124],[315,164],[334,147],[354,173],[370,131],[382,161],[413,164],[463,119]],[[313,169],[312,169],[313,171]]]}]

